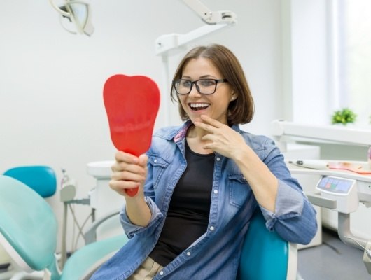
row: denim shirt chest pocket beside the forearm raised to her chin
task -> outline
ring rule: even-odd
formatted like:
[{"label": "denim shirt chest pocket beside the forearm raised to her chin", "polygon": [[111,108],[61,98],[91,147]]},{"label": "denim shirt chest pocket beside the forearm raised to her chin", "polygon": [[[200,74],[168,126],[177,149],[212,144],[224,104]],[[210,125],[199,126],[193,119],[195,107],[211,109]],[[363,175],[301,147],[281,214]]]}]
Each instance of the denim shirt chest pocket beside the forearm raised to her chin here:
[{"label": "denim shirt chest pocket beside the forearm raised to her chin", "polygon": [[251,195],[251,188],[242,174],[230,174],[228,176],[228,189],[230,204],[241,207],[246,204]]}]

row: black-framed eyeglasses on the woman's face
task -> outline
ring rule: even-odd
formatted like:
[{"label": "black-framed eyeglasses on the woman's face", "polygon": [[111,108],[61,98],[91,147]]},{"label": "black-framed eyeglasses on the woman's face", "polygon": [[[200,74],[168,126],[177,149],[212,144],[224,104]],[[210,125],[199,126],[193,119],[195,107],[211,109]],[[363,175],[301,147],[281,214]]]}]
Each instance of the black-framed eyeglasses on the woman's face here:
[{"label": "black-framed eyeglasses on the woman's face", "polygon": [[173,87],[177,94],[189,94],[193,85],[196,85],[200,94],[213,94],[218,83],[228,83],[227,79],[200,79],[200,80],[173,80]]}]

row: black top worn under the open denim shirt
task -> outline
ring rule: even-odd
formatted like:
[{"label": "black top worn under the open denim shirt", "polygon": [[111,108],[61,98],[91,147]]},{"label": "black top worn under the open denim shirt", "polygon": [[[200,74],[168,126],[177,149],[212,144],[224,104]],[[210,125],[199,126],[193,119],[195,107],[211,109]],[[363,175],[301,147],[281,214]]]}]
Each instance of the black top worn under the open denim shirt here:
[{"label": "black top worn under the open denim shirt", "polygon": [[214,158],[214,153],[198,154],[186,145],[188,165],[174,189],[160,239],[150,255],[163,267],[207,232]]}]

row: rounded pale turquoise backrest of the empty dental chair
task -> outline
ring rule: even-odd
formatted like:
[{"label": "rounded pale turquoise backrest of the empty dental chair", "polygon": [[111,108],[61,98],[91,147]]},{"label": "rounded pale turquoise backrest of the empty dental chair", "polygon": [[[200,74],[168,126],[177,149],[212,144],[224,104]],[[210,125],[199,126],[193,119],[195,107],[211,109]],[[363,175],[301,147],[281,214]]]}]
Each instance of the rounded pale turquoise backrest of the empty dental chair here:
[{"label": "rounded pale turquoise backrest of the empty dental chair", "polygon": [[0,217],[1,244],[22,269],[55,271],[57,219],[43,197],[0,175]]}]

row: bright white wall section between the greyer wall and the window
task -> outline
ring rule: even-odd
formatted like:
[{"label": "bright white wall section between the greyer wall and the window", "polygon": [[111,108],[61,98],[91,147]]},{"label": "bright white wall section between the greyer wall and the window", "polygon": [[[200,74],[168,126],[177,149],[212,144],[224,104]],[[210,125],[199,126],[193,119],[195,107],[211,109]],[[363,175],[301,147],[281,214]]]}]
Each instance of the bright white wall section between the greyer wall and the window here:
[{"label": "bright white wall section between the greyer wall and the window", "polygon": [[286,120],[328,124],[332,112],[332,80],[328,52],[329,1],[284,0],[283,92]]}]

